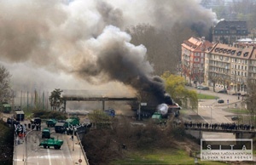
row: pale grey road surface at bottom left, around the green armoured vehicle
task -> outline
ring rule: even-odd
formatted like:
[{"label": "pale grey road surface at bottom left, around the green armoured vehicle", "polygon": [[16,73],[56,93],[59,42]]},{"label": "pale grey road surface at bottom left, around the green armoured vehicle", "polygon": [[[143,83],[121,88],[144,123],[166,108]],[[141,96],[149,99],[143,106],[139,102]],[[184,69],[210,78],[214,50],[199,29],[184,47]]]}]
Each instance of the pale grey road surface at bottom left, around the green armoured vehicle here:
[{"label": "pale grey road surface at bottom left, around the green armoured vehicle", "polygon": [[[60,150],[55,150],[53,147],[44,149],[43,146],[38,146],[42,141],[41,131],[33,130],[26,134],[26,141],[21,140],[22,143],[15,145],[14,164],[37,164],[37,165],[85,165],[85,159],[81,151],[78,139],[75,137],[74,141],[70,135],[55,134],[54,128],[51,128],[51,137],[62,139],[64,141]],[[82,160],[79,163],[79,159]]]}]

